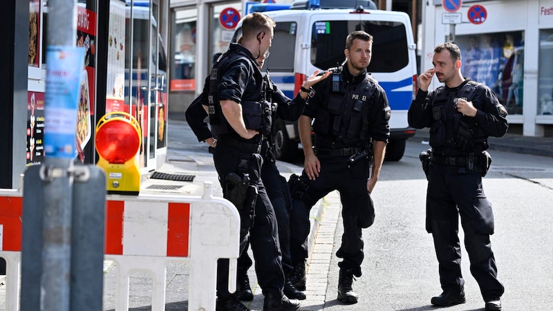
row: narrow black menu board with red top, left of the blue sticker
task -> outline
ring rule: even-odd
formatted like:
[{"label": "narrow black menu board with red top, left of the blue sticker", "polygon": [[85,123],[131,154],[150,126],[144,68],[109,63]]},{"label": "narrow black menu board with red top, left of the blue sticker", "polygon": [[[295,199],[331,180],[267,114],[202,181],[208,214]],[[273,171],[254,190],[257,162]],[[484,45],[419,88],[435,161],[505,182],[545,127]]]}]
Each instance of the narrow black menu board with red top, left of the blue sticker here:
[{"label": "narrow black menu board with red top, left of the blue sticker", "polygon": [[44,161],[44,93],[27,93],[27,165]]}]

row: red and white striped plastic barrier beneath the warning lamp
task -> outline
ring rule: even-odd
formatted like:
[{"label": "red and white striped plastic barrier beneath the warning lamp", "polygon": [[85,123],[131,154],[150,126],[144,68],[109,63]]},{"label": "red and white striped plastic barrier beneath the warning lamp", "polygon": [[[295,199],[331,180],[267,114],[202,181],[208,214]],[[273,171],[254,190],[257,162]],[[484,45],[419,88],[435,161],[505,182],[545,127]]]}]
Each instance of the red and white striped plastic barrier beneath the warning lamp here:
[{"label": "red and white striped plastic barrier beneath the warning lamp", "polygon": [[[22,198],[0,191],[0,256],[8,261],[6,305],[17,311],[21,263]],[[8,206],[8,208],[6,208]],[[240,216],[231,202],[212,196],[139,195],[106,200],[105,256],[118,266],[115,310],[129,310],[129,276],[153,276],[152,310],[165,310],[168,263],[190,267],[189,310],[215,310],[218,258],[238,258]],[[229,291],[236,289],[236,260],[230,261]]]}]

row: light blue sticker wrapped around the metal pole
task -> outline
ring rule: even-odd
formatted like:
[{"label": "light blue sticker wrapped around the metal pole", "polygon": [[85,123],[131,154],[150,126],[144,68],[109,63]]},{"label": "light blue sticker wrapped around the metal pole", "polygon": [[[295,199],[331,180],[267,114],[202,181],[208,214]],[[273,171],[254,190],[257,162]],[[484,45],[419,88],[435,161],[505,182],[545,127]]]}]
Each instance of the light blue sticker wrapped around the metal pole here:
[{"label": "light blue sticker wrapped around the metal pole", "polygon": [[73,159],[77,156],[77,102],[84,48],[48,46],[44,96],[44,155]]}]

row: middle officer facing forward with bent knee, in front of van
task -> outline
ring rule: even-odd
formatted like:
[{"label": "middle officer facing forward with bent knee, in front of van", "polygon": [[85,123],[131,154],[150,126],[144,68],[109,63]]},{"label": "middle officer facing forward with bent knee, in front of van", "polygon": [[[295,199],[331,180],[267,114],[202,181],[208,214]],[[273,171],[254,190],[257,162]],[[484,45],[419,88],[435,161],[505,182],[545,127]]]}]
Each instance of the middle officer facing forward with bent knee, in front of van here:
[{"label": "middle officer facing forward with bent knee, in front of van", "polygon": [[[299,118],[305,167],[300,178],[292,176],[290,252],[294,264],[292,284],[306,288],[309,211],[315,202],[337,189],[341,196],[344,235],[337,256],[338,299],[357,303],[353,276],[361,276],[364,258],[362,228],[373,224],[371,199],[389,137],[390,107],[386,93],[370,74],[373,36],[355,31],[346,38],[346,66],[335,68],[331,77],[305,90],[312,96]],[[311,127],[311,121],[315,119]],[[315,132],[312,148],[311,130]],[[369,167],[373,159],[373,169]]]}]

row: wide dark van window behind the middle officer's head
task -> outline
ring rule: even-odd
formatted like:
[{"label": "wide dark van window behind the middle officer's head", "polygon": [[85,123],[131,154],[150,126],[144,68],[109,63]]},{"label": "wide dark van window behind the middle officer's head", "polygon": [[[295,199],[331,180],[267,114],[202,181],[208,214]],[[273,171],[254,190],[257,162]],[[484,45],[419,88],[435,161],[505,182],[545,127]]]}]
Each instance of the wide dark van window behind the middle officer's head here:
[{"label": "wide dark van window behind the middle officer's head", "polygon": [[369,73],[393,73],[409,64],[406,28],[395,21],[316,21],[312,26],[311,64],[321,69],[344,62],[346,37],[355,30],[373,35]]}]

